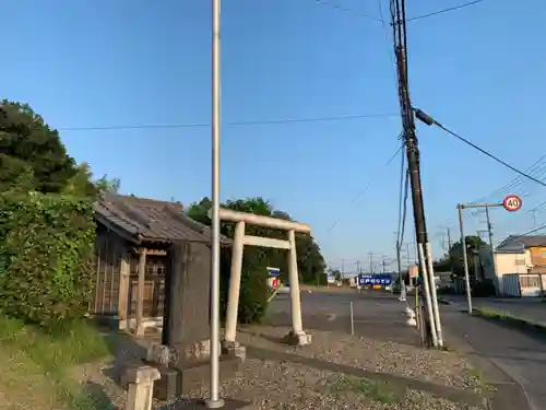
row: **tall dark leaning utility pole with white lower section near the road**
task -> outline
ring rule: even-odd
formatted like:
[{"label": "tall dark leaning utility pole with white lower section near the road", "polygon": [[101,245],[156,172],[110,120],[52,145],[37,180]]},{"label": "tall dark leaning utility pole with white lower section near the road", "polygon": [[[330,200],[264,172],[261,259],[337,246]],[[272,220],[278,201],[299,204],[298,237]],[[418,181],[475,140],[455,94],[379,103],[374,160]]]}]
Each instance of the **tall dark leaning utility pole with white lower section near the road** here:
[{"label": "tall dark leaning utility pole with white lower section near the road", "polygon": [[442,347],[440,314],[436,295],[436,281],[432,268],[432,255],[428,242],[425,208],[423,203],[423,189],[420,184],[419,148],[415,133],[415,120],[410,98],[407,80],[407,42],[405,2],[391,0],[391,25],[393,27],[394,52],[399,79],[399,98],[402,115],[403,140],[406,148],[410,184],[412,187],[412,202],[414,211],[415,233],[420,271],[423,273],[424,293],[429,317],[430,336],[434,347]]}]

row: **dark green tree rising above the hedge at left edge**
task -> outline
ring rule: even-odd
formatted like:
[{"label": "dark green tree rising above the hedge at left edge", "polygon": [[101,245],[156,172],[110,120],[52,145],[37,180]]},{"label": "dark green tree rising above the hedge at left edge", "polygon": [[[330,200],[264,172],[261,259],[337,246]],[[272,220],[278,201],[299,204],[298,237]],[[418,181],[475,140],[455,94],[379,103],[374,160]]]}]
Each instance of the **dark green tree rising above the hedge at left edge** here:
[{"label": "dark green tree rising above the hedge at left edge", "polygon": [[22,178],[37,191],[58,194],[78,173],[59,133],[27,104],[0,103],[0,154],[9,166],[2,169],[2,176],[10,178],[2,183],[12,186]]}]

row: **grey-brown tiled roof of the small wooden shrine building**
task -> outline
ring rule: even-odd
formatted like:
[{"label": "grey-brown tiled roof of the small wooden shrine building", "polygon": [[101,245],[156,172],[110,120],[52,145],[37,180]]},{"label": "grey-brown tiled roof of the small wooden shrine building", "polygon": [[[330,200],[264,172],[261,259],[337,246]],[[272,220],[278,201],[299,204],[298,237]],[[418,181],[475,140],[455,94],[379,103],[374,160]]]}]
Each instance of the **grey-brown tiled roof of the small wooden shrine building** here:
[{"label": "grey-brown tiled roof of the small wooden shrine building", "polygon": [[[104,194],[95,212],[139,242],[211,242],[211,229],[187,216],[180,202]],[[222,242],[230,243],[226,237]]]}]

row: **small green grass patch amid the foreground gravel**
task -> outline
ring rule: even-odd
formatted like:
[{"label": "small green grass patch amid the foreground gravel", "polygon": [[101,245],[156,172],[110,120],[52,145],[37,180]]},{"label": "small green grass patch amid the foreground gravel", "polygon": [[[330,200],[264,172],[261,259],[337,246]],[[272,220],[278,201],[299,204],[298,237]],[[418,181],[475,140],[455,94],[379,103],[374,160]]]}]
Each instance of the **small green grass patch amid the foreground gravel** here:
[{"label": "small green grass patch amid the foreground gravel", "polygon": [[396,393],[387,383],[366,377],[335,375],[329,378],[329,389],[331,393],[352,391],[383,403],[397,401]]}]

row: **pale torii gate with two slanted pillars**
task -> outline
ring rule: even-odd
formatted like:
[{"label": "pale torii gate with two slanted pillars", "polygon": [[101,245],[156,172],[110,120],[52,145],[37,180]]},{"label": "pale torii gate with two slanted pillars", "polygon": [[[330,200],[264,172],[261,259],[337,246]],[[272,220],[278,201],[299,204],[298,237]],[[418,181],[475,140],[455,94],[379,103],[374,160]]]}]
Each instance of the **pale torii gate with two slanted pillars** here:
[{"label": "pale torii gate with two slanted pillars", "polygon": [[[288,339],[294,344],[306,345],[311,342],[311,335],[307,335],[301,323],[301,301],[299,294],[299,277],[296,254],[296,232],[310,234],[311,227],[305,223],[285,221],[276,218],[260,216],[252,213],[219,209],[219,219],[235,222],[235,237],[233,242],[232,271],[229,293],[227,298],[226,330],[224,350],[236,351],[237,342],[237,312],[239,307],[240,279],[242,269],[242,251],[245,245],[262,246],[288,250],[288,280],[290,284],[292,331]],[[245,235],[246,224],[272,227],[287,232],[287,239],[274,239],[262,236]]]}]

